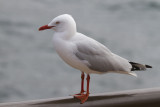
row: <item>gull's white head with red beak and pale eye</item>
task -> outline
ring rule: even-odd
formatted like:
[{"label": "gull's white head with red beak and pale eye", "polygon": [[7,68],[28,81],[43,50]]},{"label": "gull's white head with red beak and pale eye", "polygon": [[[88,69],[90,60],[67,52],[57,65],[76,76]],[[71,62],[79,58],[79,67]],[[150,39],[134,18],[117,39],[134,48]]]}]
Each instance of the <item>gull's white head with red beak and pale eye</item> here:
[{"label": "gull's white head with red beak and pale eye", "polygon": [[73,34],[76,32],[76,22],[71,15],[63,14],[54,18],[48,25],[40,27],[39,31],[45,29],[53,29],[57,33]]}]

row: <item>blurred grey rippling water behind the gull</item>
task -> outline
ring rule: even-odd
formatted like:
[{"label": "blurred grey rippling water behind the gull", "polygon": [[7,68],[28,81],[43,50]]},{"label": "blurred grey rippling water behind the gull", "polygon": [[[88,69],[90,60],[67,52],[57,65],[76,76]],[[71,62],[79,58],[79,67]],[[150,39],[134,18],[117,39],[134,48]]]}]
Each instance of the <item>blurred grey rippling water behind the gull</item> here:
[{"label": "blurred grey rippling water behind the gull", "polygon": [[91,75],[92,93],[160,86],[159,0],[0,0],[0,102],[63,97],[80,91],[81,72],[65,64],[39,32],[54,17],[71,14],[78,31],[131,61],[137,72]]}]

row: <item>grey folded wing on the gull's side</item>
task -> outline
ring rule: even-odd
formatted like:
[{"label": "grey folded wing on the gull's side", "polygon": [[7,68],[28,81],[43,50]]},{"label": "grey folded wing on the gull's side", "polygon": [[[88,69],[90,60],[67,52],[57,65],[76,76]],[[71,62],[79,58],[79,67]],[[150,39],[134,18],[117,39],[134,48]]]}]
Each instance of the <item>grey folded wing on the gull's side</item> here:
[{"label": "grey folded wing on the gull's side", "polygon": [[[124,71],[121,62],[117,61],[117,56],[100,43],[77,44],[77,52],[75,55],[80,60],[85,60],[89,64],[87,66],[94,71]],[[125,62],[128,63],[128,62]]]}]

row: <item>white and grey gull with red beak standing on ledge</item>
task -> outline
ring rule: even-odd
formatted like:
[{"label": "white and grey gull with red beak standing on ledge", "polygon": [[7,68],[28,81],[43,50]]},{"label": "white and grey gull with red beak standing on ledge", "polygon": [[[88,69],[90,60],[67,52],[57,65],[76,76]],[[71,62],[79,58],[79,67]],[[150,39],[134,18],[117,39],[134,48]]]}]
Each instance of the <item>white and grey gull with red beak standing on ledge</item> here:
[{"label": "white and grey gull with red beak standing on ledge", "polygon": [[[39,31],[54,31],[53,45],[58,55],[71,67],[81,71],[81,91],[74,98],[83,104],[89,97],[90,74],[120,73],[137,76],[134,71],[152,68],[150,65],[129,61],[112,53],[100,42],[77,32],[76,22],[69,14],[55,17]],[[87,75],[86,91],[84,79]]]}]

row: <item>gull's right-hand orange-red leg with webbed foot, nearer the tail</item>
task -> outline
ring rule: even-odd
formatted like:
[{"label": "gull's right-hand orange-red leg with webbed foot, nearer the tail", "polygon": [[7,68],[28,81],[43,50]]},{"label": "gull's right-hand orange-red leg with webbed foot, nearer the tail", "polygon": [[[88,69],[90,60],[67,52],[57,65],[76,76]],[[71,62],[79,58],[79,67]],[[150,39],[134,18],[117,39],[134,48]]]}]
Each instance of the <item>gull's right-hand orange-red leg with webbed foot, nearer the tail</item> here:
[{"label": "gull's right-hand orange-red leg with webbed foot, nearer the tail", "polygon": [[75,96],[75,98],[80,99],[81,103],[83,104],[85,101],[87,101],[88,97],[89,97],[89,82],[90,82],[90,75],[87,75],[87,92],[86,94],[81,94],[81,95],[77,95]]}]

